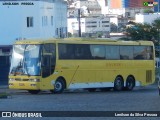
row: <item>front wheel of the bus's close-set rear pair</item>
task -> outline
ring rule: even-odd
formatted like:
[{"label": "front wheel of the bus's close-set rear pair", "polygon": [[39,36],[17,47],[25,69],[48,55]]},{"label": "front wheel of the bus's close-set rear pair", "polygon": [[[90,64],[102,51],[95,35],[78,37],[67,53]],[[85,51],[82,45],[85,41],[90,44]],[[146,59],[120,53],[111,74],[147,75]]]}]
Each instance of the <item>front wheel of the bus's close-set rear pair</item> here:
[{"label": "front wheel of the bus's close-set rear pair", "polygon": [[114,90],[121,91],[123,89],[123,86],[124,86],[123,79],[120,76],[116,77],[114,81]]}]

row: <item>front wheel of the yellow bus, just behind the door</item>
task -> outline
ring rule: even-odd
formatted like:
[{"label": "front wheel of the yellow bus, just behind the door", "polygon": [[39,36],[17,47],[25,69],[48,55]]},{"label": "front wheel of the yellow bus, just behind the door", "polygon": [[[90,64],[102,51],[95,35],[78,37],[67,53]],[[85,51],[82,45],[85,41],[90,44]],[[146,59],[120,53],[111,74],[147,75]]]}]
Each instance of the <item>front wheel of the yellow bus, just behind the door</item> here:
[{"label": "front wheel of the yellow bus, just behind the door", "polygon": [[63,79],[58,79],[56,80],[55,84],[54,84],[54,93],[62,93],[64,91],[65,88],[65,82]]}]

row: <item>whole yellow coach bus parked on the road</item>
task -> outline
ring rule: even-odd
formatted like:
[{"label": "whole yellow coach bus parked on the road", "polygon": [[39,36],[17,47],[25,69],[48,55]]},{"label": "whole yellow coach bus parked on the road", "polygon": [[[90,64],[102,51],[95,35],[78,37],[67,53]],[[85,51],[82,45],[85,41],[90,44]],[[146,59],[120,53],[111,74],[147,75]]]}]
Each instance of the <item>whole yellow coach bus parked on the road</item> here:
[{"label": "whole yellow coach bus parked on the road", "polygon": [[81,88],[120,91],[154,81],[155,52],[150,41],[67,38],[13,45],[10,89],[31,94]]}]

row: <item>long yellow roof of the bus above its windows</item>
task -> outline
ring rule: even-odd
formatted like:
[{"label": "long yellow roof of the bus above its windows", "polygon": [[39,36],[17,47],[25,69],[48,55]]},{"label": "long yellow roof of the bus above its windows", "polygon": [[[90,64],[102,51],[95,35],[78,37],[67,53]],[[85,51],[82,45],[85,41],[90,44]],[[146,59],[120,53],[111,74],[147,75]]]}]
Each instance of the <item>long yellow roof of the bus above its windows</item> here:
[{"label": "long yellow roof of the bus above its windows", "polygon": [[44,43],[77,43],[77,44],[115,44],[115,45],[153,45],[151,41],[123,41],[96,38],[51,38],[51,39],[28,39],[16,41],[15,44],[44,44]]}]

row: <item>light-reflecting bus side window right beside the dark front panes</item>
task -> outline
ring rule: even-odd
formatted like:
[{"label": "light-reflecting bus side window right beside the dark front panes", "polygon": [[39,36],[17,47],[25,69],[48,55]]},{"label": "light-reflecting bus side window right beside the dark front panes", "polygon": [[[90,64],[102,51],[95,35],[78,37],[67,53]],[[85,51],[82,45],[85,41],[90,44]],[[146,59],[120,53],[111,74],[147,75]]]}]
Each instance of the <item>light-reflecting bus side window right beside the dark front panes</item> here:
[{"label": "light-reflecting bus side window right beside the dark front panes", "polygon": [[104,45],[90,45],[91,54],[94,59],[105,59]]}]

